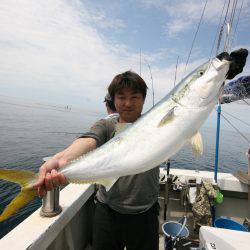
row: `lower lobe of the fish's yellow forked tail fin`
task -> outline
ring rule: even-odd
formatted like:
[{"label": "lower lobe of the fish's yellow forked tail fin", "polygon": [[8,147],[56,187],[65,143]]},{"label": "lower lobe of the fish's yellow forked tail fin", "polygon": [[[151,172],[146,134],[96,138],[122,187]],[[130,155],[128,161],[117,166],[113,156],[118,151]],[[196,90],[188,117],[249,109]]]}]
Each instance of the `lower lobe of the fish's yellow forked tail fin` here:
[{"label": "lower lobe of the fish's yellow forked tail fin", "polygon": [[36,189],[24,188],[21,192],[11,201],[11,203],[0,214],[0,221],[8,219],[12,214],[16,213],[20,208],[27,205],[37,195]]}]

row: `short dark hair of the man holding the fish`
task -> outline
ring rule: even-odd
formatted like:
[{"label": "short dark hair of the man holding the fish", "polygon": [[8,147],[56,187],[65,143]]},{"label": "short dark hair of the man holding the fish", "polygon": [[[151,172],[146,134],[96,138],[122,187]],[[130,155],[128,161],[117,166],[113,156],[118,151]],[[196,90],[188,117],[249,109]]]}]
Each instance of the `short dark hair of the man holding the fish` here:
[{"label": "short dark hair of the man holding the fish", "polygon": [[124,88],[131,88],[141,93],[144,99],[148,89],[145,81],[138,74],[130,70],[115,76],[110,83],[108,92],[111,99],[114,100],[115,94]]}]

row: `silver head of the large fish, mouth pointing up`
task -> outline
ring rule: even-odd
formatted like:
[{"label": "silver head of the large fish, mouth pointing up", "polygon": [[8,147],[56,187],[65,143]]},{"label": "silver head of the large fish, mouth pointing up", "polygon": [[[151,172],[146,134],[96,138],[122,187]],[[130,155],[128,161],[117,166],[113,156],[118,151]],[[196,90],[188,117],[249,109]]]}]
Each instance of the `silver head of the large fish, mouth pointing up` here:
[{"label": "silver head of the large fish, mouth pointing up", "polygon": [[203,107],[218,101],[223,89],[230,61],[226,57],[214,58],[196,70],[186,79],[186,94],[183,105]]}]

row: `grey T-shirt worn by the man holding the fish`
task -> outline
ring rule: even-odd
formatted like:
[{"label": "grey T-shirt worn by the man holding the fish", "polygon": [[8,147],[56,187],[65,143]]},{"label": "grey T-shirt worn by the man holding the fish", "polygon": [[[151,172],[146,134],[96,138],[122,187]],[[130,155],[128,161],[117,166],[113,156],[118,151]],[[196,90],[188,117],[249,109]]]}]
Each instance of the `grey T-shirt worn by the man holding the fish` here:
[{"label": "grey T-shirt worn by the man holding the fish", "polygon": [[[94,138],[99,147],[115,135],[117,123],[118,118],[99,120],[81,138]],[[159,168],[156,167],[144,173],[120,177],[108,192],[100,185],[97,199],[119,213],[136,214],[148,210],[157,201],[158,194]]]}]

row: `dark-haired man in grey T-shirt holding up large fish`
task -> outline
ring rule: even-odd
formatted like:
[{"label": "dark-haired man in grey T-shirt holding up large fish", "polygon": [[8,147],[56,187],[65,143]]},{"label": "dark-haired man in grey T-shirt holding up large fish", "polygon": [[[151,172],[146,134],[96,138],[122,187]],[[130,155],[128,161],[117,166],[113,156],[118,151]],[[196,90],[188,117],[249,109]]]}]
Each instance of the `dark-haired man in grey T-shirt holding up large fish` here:
[{"label": "dark-haired man in grey T-shirt holding up large fish", "polygon": [[[133,123],[141,116],[147,86],[138,74],[127,71],[117,75],[108,92],[119,118],[96,122],[89,132],[42,165],[36,185],[40,195],[66,183],[57,168],[107,142],[115,135],[117,124]],[[158,168],[121,177],[109,192],[101,187],[96,197],[93,249],[158,249],[158,193]]]}]

